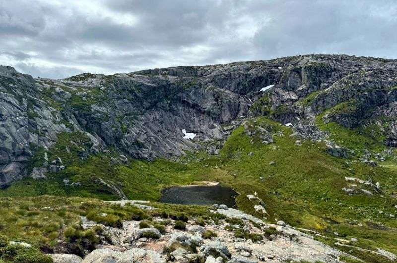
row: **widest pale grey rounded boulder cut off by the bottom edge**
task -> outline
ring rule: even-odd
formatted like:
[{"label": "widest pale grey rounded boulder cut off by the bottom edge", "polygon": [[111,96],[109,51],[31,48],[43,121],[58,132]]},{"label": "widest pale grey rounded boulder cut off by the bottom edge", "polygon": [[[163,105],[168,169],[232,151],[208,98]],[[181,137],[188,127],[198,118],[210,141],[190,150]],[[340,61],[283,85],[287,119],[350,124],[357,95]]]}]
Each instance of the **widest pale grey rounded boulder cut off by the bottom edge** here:
[{"label": "widest pale grey rounded boulder cut off by the bottom edge", "polygon": [[125,252],[114,251],[108,248],[96,249],[88,254],[82,263],[165,263],[166,260],[159,253],[133,248]]}]

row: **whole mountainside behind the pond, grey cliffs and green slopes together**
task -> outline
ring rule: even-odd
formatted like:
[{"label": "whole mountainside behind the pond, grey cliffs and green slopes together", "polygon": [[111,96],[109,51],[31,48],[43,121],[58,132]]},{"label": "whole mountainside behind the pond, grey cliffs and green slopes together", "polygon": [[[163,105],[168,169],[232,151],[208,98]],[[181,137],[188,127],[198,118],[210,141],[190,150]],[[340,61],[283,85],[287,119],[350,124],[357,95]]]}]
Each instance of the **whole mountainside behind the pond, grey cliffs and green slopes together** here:
[{"label": "whole mountainside behind the pond, grey cliffs and green slopes together", "polygon": [[138,72],[52,80],[0,67],[2,200],[156,201],[169,186],[217,181],[248,214],[392,262],[379,249],[397,254],[397,61]]}]

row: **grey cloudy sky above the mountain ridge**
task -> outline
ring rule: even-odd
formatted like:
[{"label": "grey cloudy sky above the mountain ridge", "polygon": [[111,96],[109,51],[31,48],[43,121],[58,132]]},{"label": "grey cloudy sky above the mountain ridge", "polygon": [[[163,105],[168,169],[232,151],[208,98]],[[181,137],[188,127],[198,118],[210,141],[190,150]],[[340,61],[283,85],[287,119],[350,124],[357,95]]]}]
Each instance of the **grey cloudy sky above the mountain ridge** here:
[{"label": "grey cloudy sky above the mountain ridge", "polygon": [[33,77],[299,54],[397,59],[397,0],[0,0],[0,65]]}]

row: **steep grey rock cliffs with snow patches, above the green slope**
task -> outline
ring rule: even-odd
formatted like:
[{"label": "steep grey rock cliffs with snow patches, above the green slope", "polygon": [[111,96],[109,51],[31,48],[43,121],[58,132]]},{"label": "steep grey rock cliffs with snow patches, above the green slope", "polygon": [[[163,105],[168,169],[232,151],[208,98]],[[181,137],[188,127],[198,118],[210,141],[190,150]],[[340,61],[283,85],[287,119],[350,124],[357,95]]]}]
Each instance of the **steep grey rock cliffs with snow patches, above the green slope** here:
[{"label": "steep grey rock cliffs with snow patches, above the green slope", "polygon": [[0,187],[32,173],[31,156],[62,132],[89,139],[82,159],[112,148],[153,160],[199,147],[216,154],[235,127],[258,115],[318,139],[320,116],[349,128],[379,125],[383,142],[396,146],[396,105],[397,61],[370,57],[306,55],[61,80],[0,66]]}]

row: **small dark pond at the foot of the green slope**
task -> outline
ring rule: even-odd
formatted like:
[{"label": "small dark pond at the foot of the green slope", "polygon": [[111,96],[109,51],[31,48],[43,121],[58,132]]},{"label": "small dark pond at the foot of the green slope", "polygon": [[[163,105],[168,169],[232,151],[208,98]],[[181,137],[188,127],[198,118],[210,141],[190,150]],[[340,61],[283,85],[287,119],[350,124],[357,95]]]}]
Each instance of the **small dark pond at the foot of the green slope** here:
[{"label": "small dark pond at the foot of the green slope", "polygon": [[160,202],[176,204],[212,205],[226,204],[237,208],[234,197],[237,193],[230,187],[215,186],[174,186],[161,191]]}]

